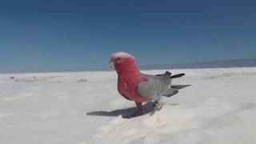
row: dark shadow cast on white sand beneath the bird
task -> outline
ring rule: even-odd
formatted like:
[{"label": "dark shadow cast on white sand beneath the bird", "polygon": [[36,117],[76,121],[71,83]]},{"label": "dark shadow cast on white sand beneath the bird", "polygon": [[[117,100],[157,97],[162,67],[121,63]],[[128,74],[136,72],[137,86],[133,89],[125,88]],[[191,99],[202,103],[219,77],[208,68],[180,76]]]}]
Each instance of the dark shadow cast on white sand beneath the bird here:
[{"label": "dark shadow cast on white sand beneath the bird", "polygon": [[[138,117],[144,114],[149,114],[150,111],[153,110],[154,102],[147,102],[143,105],[143,114],[134,115],[134,117]],[[125,118],[127,115],[134,114],[137,111],[137,107],[130,107],[121,110],[112,110],[112,111],[91,111],[88,112],[86,115],[94,115],[94,116],[105,116],[105,117],[118,117],[122,115],[122,118]]]}]

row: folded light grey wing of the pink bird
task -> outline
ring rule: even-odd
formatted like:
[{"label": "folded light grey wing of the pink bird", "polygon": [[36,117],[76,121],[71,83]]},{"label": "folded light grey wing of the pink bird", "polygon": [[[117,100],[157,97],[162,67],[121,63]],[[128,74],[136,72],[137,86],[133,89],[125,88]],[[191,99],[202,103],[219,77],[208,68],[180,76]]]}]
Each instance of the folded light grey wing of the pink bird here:
[{"label": "folded light grey wing of the pink bird", "polygon": [[165,94],[169,85],[161,78],[145,77],[147,81],[138,84],[138,92],[142,96],[158,100],[162,94]]}]

